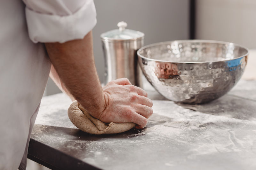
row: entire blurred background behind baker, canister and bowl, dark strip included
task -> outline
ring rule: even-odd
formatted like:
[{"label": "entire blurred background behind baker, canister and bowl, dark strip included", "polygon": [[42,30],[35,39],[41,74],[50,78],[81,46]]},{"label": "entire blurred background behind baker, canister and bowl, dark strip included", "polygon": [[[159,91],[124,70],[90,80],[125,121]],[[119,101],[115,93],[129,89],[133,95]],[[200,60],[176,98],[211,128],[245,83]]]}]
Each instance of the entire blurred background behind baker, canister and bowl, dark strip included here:
[{"label": "entire blurred background behind baker, canister and bowl, dark strip included", "polygon": [[[94,3],[97,11],[94,58],[101,82],[104,58],[100,34],[117,29],[120,21],[127,22],[128,29],[144,32],[144,45],[178,39],[212,39],[256,49],[255,0],[94,0]],[[256,63],[252,54],[249,63]],[[59,92],[49,79],[44,95]],[[27,169],[47,168],[28,160]]]}]

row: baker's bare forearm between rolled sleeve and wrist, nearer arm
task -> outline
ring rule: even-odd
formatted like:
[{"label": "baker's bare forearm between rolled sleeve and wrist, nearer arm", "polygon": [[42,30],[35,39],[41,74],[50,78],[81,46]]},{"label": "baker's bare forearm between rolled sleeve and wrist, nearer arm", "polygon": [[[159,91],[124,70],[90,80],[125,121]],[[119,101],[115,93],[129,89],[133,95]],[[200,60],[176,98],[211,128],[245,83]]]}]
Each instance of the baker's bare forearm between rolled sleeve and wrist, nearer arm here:
[{"label": "baker's bare forearm between rolled sleeve and wrist, nearer arm", "polygon": [[61,81],[74,98],[97,117],[105,98],[96,72],[92,49],[92,32],[84,39],[45,43],[48,55]]}]

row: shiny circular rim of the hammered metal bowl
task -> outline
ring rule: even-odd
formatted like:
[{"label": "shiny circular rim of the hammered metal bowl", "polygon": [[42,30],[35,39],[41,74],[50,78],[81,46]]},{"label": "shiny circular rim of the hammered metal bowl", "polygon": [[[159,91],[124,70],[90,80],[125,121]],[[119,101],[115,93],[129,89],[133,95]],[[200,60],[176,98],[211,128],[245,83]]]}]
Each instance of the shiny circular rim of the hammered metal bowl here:
[{"label": "shiny circular rim of the hammered metal bowl", "polygon": [[[238,46],[240,48],[244,48],[247,53],[239,56],[237,58],[233,58],[233,59],[228,59],[228,60],[219,60],[219,61],[194,61],[194,62],[184,62],[184,61],[168,61],[168,60],[157,60],[157,59],[151,59],[148,57],[144,57],[140,54],[140,51],[148,48],[148,47],[152,47],[152,46],[157,46],[157,45],[163,45],[163,44],[167,44],[167,43],[172,43],[172,42],[204,42],[204,43],[215,43],[215,44],[225,44],[225,45],[232,45],[232,46]],[[171,63],[184,63],[184,64],[189,64],[189,63],[216,63],[216,62],[223,62],[223,61],[231,61],[231,60],[235,60],[235,59],[240,59],[243,58],[244,56],[249,55],[249,49],[246,48],[245,46],[241,46],[239,44],[236,43],[232,43],[232,42],[226,42],[226,41],[217,41],[217,40],[207,40],[207,39],[181,39],[181,40],[173,40],[173,41],[163,41],[163,42],[157,42],[157,43],[153,43],[153,44],[149,44],[147,46],[143,46],[141,47],[138,51],[137,51],[137,55],[143,59],[146,60],[150,60],[150,61],[159,61],[159,62],[171,62]]]}]

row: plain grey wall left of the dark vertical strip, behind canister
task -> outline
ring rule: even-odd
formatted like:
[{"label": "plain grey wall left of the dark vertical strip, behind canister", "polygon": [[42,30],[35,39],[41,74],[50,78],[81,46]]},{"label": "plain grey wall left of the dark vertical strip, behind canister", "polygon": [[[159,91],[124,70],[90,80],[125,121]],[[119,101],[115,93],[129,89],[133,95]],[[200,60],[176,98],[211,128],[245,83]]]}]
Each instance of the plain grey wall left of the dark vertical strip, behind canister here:
[{"label": "plain grey wall left of the dark vertical strip, behind canister", "polygon": [[[95,0],[97,25],[93,29],[93,47],[100,81],[104,80],[104,60],[100,34],[117,28],[119,21],[127,28],[145,33],[144,45],[189,38],[189,0]],[[45,95],[60,92],[49,79]]]}]

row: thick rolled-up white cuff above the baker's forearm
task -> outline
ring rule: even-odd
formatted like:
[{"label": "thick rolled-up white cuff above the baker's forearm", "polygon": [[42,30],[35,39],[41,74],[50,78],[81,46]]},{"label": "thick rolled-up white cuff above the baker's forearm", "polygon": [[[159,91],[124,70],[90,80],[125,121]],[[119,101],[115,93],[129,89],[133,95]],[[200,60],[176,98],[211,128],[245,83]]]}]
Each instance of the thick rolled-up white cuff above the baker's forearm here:
[{"label": "thick rolled-up white cuff above the baker's forearm", "polygon": [[29,38],[34,42],[60,42],[83,39],[96,25],[93,0],[87,0],[73,14],[44,14],[26,7]]}]

